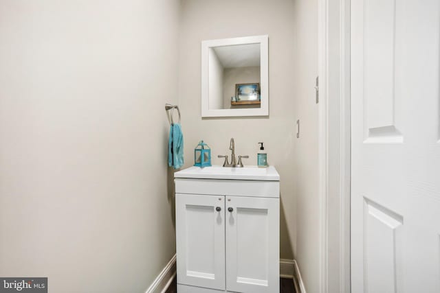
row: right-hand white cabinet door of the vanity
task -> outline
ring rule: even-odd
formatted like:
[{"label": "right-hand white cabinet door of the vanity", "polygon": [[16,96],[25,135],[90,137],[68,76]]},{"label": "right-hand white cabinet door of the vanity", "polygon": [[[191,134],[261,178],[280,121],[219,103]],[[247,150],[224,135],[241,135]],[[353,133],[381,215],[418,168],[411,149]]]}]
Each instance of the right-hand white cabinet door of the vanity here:
[{"label": "right-hand white cabinet door of the vanity", "polygon": [[226,288],[280,292],[278,198],[226,196]]}]

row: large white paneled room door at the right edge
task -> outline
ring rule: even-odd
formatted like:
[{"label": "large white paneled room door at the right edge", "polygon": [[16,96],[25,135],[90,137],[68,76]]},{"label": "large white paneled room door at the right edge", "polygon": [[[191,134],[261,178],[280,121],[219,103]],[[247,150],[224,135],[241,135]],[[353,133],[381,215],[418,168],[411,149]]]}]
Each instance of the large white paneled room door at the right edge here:
[{"label": "large white paneled room door at the right edge", "polygon": [[351,1],[352,292],[440,292],[439,0]]}]

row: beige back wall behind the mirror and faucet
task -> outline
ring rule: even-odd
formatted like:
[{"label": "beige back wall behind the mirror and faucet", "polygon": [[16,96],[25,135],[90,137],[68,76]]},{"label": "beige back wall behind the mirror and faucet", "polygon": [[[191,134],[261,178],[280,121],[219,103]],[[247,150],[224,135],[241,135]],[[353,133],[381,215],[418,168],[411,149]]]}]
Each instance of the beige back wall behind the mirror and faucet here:
[{"label": "beige back wall behind the mirror and faucet", "polygon": [[[295,40],[291,0],[183,0],[179,44],[179,105],[185,134],[185,167],[192,165],[194,148],[203,139],[218,154],[248,154],[256,165],[263,141],[268,161],[281,175],[281,257],[292,259],[295,243],[294,198],[294,78]],[[245,16],[243,16],[245,13]],[[251,17],[248,17],[251,16]],[[201,119],[201,41],[216,38],[269,35],[270,117]]]}]

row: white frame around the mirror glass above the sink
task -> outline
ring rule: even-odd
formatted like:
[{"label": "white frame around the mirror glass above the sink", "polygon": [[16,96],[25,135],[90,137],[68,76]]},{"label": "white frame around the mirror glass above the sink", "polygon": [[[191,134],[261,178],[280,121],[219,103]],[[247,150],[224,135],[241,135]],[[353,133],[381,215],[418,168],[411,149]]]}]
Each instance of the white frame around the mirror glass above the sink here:
[{"label": "white frame around the mirror glass above the sink", "polygon": [[[239,117],[269,115],[269,37],[245,36],[201,42],[201,117]],[[212,47],[260,44],[261,108],[210,109],[209,108],[209,49]]]}]

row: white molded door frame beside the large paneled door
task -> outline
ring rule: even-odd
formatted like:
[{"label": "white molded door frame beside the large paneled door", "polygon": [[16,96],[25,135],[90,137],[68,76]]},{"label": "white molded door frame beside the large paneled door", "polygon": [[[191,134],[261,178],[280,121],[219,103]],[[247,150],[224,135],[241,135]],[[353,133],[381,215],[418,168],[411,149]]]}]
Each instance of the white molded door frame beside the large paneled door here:
[{"label": "white molded door frame beside the large paneled door", "polygon": [[321,293],[351,292],[350,4],[318,0]]}]

